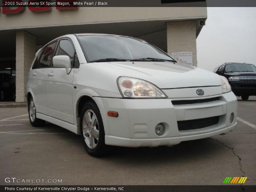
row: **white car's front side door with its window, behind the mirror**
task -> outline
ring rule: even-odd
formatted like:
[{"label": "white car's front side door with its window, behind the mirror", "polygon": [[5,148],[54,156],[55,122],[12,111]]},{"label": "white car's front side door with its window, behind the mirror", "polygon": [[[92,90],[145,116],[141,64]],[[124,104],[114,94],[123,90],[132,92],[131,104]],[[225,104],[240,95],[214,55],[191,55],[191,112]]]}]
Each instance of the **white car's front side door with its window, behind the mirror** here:
[{"label": "white car's front side door with its window, behind the mirror", "polygon": [[74,124],[74,111],[72,102],[75,48],[68,38],[60,39],[55,55],[68,55],[73,68],[66,73],[65,68],[52,66],[48,70],[47,106],[49,116]]}]

